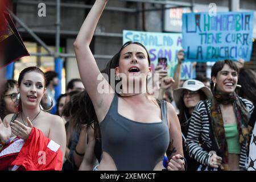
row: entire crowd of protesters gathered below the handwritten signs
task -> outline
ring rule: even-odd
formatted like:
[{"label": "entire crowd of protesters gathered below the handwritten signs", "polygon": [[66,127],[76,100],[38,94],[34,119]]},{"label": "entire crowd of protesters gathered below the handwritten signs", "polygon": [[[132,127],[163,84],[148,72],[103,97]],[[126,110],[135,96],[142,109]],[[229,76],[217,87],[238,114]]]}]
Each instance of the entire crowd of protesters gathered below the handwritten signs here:
[{"label": "entire crowd of protesters gathered below the handwritten signs", "polygon": [[0,170],[256,170],[256,73],[221,60],[211,78],[181,80],[180,50],[171,78],[138,42],[100,71],[89,46],[107,2],[96,0],[80,28],[81,78],[67,93],[55,101],[57,73],[38,67],[3,84]]}]

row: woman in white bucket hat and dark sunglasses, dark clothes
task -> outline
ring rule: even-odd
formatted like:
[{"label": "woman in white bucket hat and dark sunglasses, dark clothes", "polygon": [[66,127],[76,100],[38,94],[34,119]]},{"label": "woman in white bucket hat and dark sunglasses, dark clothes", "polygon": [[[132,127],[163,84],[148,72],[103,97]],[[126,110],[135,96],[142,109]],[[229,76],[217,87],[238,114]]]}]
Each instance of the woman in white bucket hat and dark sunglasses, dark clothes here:
[{"label": "woman in white bucket hat and dark sunglasses, dark clothes", "polygon": [[189,120],[197,103],[210,98],[212,98],[212,92],[203,82],[198,80],[187,80],[182,87],[174,90],[174,101],[180,111],[178,117],[183,134],[183,154],[187,159],[189,171],[195,171],[199,166],[195,159],[189,157],[187,151],[186,138]]}]

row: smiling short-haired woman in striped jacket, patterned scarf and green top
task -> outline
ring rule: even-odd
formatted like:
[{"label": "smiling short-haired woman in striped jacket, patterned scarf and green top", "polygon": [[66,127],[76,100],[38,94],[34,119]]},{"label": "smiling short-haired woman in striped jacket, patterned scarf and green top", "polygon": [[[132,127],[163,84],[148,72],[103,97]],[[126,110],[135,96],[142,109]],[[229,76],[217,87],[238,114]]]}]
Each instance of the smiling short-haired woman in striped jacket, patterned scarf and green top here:
[{"label": "smiling short-haired woman in striped jacket, patterned scarf and green top", "polygon": [[200,101],[191,116],[189,155],[200,170],[246,170],[254,106],[235,92],[238,68],[232,60],[216,62],[211,79],[212,99]]}]

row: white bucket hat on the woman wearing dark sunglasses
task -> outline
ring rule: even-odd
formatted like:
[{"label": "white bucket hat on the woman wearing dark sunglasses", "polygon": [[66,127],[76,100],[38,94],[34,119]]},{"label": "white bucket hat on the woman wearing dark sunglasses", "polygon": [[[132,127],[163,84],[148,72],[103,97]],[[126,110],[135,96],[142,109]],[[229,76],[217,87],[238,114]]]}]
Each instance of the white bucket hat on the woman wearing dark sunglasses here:
[{"label": "white bucket hat on the woman wearing dark sunglasses", "polygon": [[198,80],[186,80],[184,81],[182,87],[174,89],[174,101],[176,105],[179,105],[179,102],[182,99],[181,95],[184,89],[191,91],[202,90],[208,99],[212,98],[212,92],[207,86],[203,84],[203,82]]}]

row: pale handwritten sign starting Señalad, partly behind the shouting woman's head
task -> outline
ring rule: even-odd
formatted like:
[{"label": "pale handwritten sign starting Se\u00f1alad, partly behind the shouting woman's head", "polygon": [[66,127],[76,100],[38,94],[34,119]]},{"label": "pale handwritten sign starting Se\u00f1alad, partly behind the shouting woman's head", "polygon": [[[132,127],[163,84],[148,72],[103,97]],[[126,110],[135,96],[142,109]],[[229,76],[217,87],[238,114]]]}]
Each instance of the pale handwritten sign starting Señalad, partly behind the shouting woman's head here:
[{"label": "pale handwritten sign starting Se\u00f1alad, partly behind the shouting woman's head", "polygon": [[[147,48],[152,70],[158,65],[158,58],[166,58],[168,75],[174,76],[177,65],[176,55],[182,49],[181,34],[123,30],[123,44],[128,41],[142,43]],[[193,70],[191,62],[183,63],[181,80],[193,78]]]}]

